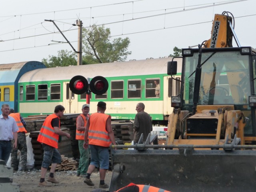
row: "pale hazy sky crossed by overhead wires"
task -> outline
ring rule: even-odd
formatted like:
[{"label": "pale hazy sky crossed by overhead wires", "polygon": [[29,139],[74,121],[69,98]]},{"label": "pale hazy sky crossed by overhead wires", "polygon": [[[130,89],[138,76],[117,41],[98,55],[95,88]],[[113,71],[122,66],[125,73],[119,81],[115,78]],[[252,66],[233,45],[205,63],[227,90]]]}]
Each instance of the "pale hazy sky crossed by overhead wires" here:
[{"label": "pale hazy sky crossed by overhead wires", "polygon": [[104,24],[111,40],[130,39],[132,54],[126,60],[143,60],[208,40],[214,14],[227,11],[234,16],[241,46],[256,48],[255,8],[256,0],[5,0],[0,6],[0,64],[42,61],[60,50],[73,51],[45,20],[54,20],[75,50],[76,20],[86,28]]}]

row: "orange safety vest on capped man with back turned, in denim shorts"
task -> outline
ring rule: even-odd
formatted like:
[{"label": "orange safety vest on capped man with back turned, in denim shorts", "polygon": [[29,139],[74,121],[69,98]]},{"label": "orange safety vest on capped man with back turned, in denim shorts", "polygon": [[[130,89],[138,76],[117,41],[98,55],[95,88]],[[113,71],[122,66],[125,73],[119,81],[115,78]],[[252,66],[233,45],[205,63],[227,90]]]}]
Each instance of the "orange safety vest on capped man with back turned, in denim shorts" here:
[{"label": "orange safety vest on capped man with back turned, in denim shorts", "polygon": [[94,113],[90,116],[90,127],[88,140],[90,145],[109,147],[111,144],[106,130],[106,121],[110,115],[104,113]]}]

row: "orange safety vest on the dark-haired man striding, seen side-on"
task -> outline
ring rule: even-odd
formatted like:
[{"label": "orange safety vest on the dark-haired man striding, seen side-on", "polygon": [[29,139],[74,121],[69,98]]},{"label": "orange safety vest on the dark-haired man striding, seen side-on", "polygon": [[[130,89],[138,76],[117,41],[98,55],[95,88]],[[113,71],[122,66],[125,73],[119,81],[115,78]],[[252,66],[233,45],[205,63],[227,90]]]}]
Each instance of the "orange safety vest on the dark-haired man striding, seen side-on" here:
[{"label": "orange safety vest on the dark-haired man striding, seen side-on", "polygon": [[[42,128],[39,132],[37,141],[58,149],[59,135],[54,132],[54,128],[51,125],[52,119],[54,118],[59,118],[59,117],[56,114],[51,114],[48,117],[46,117],[42,125]],[[59,128],[60,128],[60,122],[59,122]]]}]

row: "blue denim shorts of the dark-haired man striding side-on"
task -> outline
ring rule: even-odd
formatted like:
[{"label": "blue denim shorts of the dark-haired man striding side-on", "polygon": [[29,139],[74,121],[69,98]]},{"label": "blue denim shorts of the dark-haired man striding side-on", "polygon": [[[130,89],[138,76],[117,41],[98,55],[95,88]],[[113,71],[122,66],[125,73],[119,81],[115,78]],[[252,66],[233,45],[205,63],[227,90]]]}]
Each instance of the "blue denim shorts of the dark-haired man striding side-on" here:
[{"label": "blue denim shorts of the dark-haired man striding side-on", "polygon": [[43,168],[49,168],[51,163],[61,163],[61,156],[58,149],[42,143],[44,148],[44,159],[42,162]]}]

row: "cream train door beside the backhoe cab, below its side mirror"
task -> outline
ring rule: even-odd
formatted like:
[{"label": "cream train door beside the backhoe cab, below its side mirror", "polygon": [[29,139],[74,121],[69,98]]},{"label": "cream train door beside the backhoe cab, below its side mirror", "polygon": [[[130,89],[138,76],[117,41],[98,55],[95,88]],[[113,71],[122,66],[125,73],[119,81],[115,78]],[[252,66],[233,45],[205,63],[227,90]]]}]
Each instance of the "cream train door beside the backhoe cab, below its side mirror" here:
[{"label": "cream train door beside the backhoe cab, below its side mirror", "polygon": [[173,111],[171,107],[171,96],[180,94],[180,78],[181,76],[164,76],[164,115],[170,115]]}]

